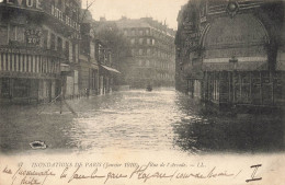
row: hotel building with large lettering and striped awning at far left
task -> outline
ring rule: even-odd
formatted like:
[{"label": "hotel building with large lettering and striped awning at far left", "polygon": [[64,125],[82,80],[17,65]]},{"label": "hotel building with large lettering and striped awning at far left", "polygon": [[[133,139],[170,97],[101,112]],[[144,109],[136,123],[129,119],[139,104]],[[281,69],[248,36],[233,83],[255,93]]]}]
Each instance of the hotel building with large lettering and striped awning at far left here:
[{"label": "hotel building with large lettering and striped awning at far left", "polygon": [[0,2],[0,101],[77,94],[79,0]]}]

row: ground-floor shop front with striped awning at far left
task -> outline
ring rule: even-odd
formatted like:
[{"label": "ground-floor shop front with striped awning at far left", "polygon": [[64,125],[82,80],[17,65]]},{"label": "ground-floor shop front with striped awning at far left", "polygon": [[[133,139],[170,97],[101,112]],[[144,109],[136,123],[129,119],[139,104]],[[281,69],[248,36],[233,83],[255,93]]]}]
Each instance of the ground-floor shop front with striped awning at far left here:
[{"label": "ground-floor shop front with striped awning at far left", "polygon": [[1,102],[52,101],[60,91],[59,60],[42,49],[2,46],[0,49]]}]

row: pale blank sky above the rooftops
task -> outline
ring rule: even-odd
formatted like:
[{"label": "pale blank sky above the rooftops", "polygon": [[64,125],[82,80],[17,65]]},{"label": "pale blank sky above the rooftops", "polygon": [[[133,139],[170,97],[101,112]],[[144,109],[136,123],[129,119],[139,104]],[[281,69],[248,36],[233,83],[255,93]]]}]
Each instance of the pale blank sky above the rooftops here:
[{"label": "pale blank sky above the rooftops", "polygon": [[[94,0],[82,0],[82,8],[87,8],[87,2]],[[122,16],[139,19],[152,16],[159,22],[167,22],[168,26],[176,30],[176,18],[181,5],[189,0],[95,0],[90,11],[94,20],[101,16],[106,20],[119,20]]]}]

